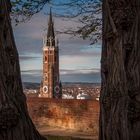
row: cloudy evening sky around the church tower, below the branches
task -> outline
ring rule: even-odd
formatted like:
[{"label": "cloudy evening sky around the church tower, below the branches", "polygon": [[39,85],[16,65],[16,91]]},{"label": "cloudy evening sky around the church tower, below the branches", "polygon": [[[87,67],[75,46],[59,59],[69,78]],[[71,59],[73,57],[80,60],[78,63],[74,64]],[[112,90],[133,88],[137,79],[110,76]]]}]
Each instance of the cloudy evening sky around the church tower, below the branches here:
[{"label": "cloudy evening sky around the church tower, below the branches", "polygon": [[[47,8],[48,9],[48,8]],[[55,9],[54,9],[55,10]],[[53,12],[53,8],[52,8]],[[53,18],[55,30],[76,28],[73,21]],[[15,41],[20,57],[22,81],[40,83],[42,77],[42,47],[44,29],[48,25],[48,16],[44,11],[18,26],[13,25]],[[58,34],[60,78],[62,82],[100,82],[101,45],[89,45],[89,40]]]}]

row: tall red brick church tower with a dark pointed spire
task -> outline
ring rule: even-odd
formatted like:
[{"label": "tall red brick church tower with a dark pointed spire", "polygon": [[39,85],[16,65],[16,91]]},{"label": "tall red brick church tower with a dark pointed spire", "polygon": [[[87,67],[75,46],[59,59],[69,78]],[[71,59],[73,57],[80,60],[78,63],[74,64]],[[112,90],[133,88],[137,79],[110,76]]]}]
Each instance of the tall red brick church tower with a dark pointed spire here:
[{"label": "tall red brick church tower with a dark pointed spire", "polygon": [[55,39],[54,23],[50,10],[48,31],[43,39],[43,77],[39,97],[61,98],[61,83],[59,81],[59,47]]}]

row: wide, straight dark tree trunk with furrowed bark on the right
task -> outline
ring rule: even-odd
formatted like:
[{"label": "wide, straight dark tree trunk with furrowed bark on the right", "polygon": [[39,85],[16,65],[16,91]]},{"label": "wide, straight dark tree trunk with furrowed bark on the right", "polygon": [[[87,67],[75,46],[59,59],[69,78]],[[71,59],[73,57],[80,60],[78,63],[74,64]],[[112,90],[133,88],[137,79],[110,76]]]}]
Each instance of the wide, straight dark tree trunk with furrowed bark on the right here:
[{"label": "wide, straight dark tree trunk with furrowed bark on the right", "polygon": [[100,140],[140,140],[140,0],[103,0]]}]

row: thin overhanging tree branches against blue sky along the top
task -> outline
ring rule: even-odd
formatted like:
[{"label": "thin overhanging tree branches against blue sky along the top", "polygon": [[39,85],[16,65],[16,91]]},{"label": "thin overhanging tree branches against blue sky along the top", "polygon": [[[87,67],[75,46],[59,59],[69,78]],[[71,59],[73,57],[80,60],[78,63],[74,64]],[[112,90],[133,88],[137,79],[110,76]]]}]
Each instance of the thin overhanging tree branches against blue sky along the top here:
[{"label": "thin overhanging tree branches against blue sky along the top", "polygon": [[[83,39],[90,38],[97,42],[101,38],[102,28],[102,0],[19,0],[13,1],[12,17],[16,23],[29,20],[34,14],[40,12],[49,3],[54,9],[54,15],[64,20],[75,20],[80,26],[77,29],[65,29],[59,33],[79,35]],[[47,10],[45,12],[47,13]],[[57,32],[57,33],[58,33]]]}]

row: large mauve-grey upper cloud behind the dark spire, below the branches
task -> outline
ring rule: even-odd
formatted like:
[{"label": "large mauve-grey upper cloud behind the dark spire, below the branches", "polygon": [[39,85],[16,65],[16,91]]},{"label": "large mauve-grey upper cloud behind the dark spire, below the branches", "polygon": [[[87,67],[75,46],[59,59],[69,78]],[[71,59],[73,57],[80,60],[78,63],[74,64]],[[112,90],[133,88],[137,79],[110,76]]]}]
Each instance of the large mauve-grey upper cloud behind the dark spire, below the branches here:
[{"label": "large mauve-grey upper cloud behind the dark spire, below the branches", "polygon": [[[26,23],[21,23],[14,27],[14,35],[16,39],[17,48],[20,54],[42,53],[43,47],[43,34],[47,31],[48,17],[42,13],[36,14],[32,19]],[[63,30],[69,27],[76,27],[73,21],[64,21],[61,18],[55,18],[55,29]],[[63,26],[62,26],[63,25]],[[45,31],[44,31],[45,30]],[[78,37],[70,38],[69,35],[57,35],[60,42],[60,55],[80,53],[80,49],[90,44],[89,40],[82,40]]]}]

